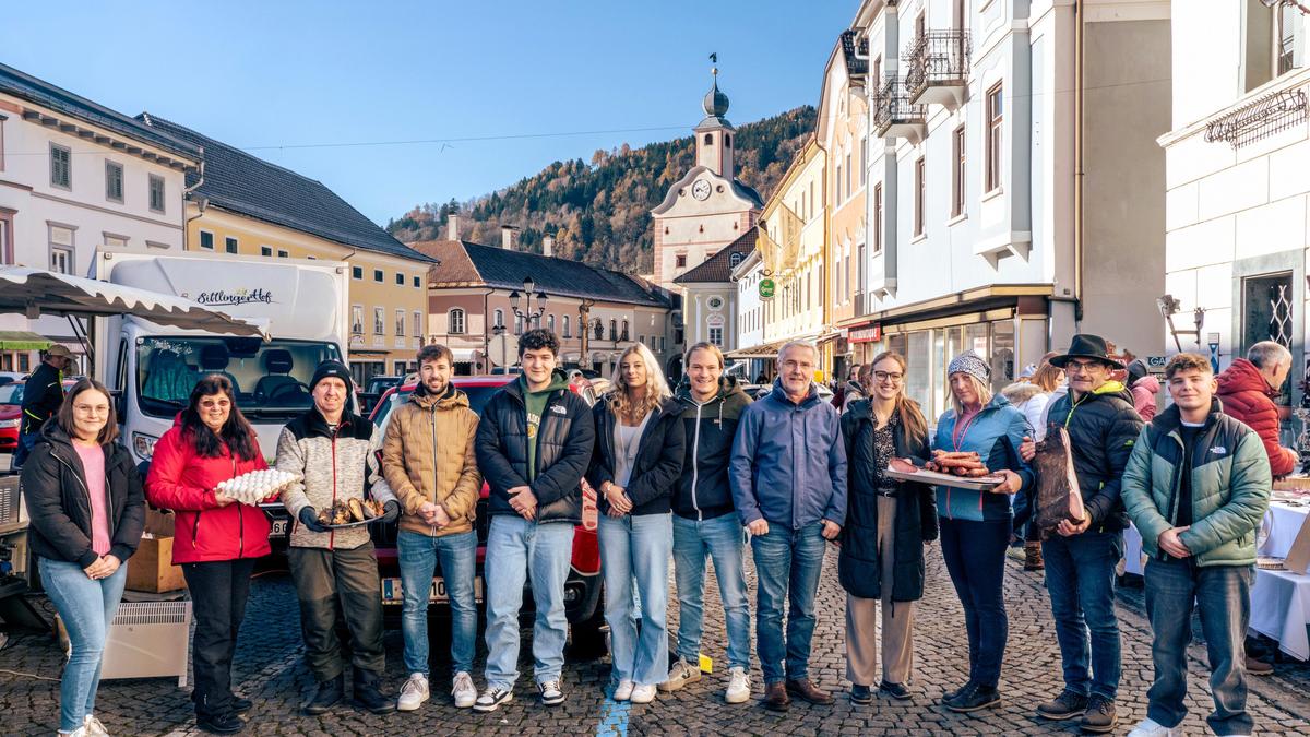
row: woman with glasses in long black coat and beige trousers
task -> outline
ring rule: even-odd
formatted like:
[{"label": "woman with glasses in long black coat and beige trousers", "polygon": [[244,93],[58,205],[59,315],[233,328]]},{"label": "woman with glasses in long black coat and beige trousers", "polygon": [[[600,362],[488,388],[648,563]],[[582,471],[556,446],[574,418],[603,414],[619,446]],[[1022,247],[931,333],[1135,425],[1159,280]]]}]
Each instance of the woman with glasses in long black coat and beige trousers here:
[{"label": "woman with glasses in long black coat and beige trousers", "polygon": [[[914,602],[924,595],[924,543],[937,539],[931,487],[887,477],[893,459],[922,464],[930,458],[927,422],[905,396],[905,359],[874,358],[870,399],[841,418],[846,442],[846,523],[837,573],[846,589],[846,678],[850,700],[867,704],[878,675],[875,637],[882,602],[880,690],[908,699],[914,662]],[[899,463],[899,462],[897,462]]]}]

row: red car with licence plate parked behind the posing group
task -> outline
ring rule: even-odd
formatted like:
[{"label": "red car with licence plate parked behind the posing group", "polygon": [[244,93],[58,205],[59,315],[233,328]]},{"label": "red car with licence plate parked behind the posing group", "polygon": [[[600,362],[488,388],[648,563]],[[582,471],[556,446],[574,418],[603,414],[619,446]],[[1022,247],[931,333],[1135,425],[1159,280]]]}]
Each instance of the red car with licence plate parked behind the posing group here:
[{"label": "red car with licence plate parked behind the posing group", "polygon": [[[473,412],[479,413],[482,408],[486,407],[487,400],[491,399],[500,387],[516,380],[517,376],[514,375],[493,375],[493,376],[452,376],[451,383],[460,388],[464,393],[469,396],[469,407]],[[377,407],[373,409],[372,421],[377,426],[380,433],[386,431],[386,422],[390,420],[392,412],[406,401],[418,384],[409,383],[401,387],[393,387],[383,395],[377,401]],[[570,376],[570,391],[578,393],[588,405],[596,403],[596,393],[592,389],[591,382],[583,378],[580,374]],[[482,484],[482,494],[478,501],[477,519],[474,522],[474,528],[478,535],[478,564],[477,564],[477,584],[476,591],[478,597],[478,605],[482,606],[483,601],[483,560],[486,557],[486,540],[487,531],[490,530],[491,519],[487,517],[487,496],[490,494],[490,488],[486,483]],[[565,582],[565,608],[569,616],[569,623],[572,626],[572,644],[578,652],[582,653],[601,653],[604,652],[604,635],[601,633],[601,624],[604,623],[604,610],[601,607],[601,582],[600,582],[600,546],[596,539],[596,493],[587,485],[583,480],[583,518],[590,519],[591,525],[579,525],[574,530],[574,548],[572,548],[572,565],[569,572],[569,580]],[[373,547],[377,555],[377,569],[383,578],[383,605],[386,612],[386,619],[398,620],[401,608],[401,588],[400,588],[400,561],[396,553],[396,530],[397,526],[392,525],[372,525]],[[527,589],[531,584],[525,585]],[[448,599],[445,594],[445,586],[440,577],[432,580],[432,589],[428,594],[430,601],[434,605],[434,612],[439,615],[449,615]],[[524,626],[532,622],[532,594],[524,590],[523,595],[524,608],[520,614],[520,620]]]}]

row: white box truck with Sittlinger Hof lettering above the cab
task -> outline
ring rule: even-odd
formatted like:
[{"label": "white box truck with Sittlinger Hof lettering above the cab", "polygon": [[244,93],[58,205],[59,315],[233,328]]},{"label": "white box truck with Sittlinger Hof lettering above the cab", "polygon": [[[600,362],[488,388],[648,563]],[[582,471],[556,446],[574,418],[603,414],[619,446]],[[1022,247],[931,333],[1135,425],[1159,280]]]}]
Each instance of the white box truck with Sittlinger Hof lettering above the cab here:
[{"label": "white box truck with Sittlinger Hof lettering above the cab", "polygon": [[90,277],[172,294],[262,324],[269,341],[96,317],[96,376],[118,401],[121,442],[138,463],[173,426],[196,379],[223,374],[271,462],[278,434],[312,404],[318,362],[346,361],[348,275],[341,261],[97,252]]}]

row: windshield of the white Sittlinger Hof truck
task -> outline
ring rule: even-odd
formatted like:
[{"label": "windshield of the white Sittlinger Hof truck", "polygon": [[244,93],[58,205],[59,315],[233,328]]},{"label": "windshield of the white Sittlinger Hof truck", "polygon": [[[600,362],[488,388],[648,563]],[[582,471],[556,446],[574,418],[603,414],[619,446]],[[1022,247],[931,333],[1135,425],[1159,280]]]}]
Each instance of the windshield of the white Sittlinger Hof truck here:
[{"label": "windshield of the white Sittlinger Hof truck", "polygon": [[293,414],[313,404],[309,379],[325,359],[341,361],[337,346],[312,341],[238,337],[148,337],[136,344],[136,391],[141,410],[173,417],[186,407],[202,376],[227,376],[237,407],[250,416]]}]

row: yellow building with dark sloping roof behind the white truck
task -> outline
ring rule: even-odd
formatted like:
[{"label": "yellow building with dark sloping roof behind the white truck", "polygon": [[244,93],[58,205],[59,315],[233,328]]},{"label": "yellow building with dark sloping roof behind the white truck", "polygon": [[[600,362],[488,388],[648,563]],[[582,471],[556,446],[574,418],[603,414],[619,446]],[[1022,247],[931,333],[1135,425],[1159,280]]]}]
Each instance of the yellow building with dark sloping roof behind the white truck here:
[{"label": "yellow building with dark sloping roof behind the white truck", "polygon": [[426,342],[427,270],[436,261],[392,237],[322,182],[148,113],[149,126],[202,147],[191,176],[186,250],[350,264],[347,361],[362,386],[417,370]]}]

